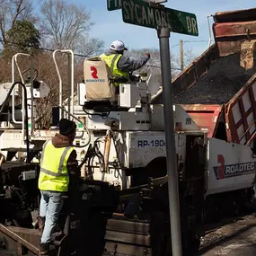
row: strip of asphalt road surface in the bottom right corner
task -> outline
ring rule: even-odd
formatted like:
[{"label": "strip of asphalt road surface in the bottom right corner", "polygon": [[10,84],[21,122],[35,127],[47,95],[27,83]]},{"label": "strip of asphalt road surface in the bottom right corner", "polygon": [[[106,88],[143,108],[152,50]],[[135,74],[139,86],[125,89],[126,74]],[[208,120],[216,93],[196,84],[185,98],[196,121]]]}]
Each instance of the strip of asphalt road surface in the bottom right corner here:
[{"label": "strip of asphalt road surface in the bottom right corner", "polygon": [[256,216],[243,216],[208,232],[196,256],[218,255],[256,256]]}]

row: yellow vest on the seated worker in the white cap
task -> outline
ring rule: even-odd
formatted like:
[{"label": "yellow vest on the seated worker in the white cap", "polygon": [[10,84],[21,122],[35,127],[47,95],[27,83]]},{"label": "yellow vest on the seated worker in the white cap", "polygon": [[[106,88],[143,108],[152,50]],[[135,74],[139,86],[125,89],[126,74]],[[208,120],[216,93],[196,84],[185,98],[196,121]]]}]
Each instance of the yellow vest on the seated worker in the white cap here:
[{"label": "yellow vest on the seated worker in the white cap", "polygon": [[[122,57],[121,54],[105,55],[103,53],[100,57],[106,62],[107,66],[110,68],[110,73],[113,78],[125,77],[128,79],[128,73],[120,71],[118,68],[119,58]],[[114,83],[114,85],[118,86],[119,83]]]}]

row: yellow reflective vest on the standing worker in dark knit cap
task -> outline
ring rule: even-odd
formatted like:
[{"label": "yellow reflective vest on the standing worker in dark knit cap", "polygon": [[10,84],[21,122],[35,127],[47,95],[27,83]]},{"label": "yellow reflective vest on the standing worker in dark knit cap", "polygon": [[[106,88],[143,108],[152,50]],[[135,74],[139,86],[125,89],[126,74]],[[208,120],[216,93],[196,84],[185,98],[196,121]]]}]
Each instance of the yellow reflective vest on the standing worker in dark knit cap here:
[{"label": "yellow reflective vest on the standing worker in dark knit cap", "polygon": [[39,189],[66,192],[68,190],[69,174],[67,160],[73,146],[55,147],[49,139],[42,150],[40,163]]}]

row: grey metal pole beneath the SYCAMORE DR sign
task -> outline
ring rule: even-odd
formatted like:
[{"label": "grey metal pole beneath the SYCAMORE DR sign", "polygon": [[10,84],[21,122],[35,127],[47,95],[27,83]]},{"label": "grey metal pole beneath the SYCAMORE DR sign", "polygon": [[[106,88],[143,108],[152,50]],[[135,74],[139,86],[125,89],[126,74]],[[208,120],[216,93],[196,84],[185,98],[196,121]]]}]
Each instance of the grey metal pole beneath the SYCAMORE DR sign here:
[{"label": "grey metal pole beneath the SYCAMORE DR sign", "polygon": [[181,256],[181,217],[172,105],[172,74],[169,43],[170,30],[167,28],[162,28],[157,31],[157,35],[160,45],[161,73],[163,85],[163,114],[165,126],[166,162],[171,220],[170,225],[172,235],[172,255]]}]

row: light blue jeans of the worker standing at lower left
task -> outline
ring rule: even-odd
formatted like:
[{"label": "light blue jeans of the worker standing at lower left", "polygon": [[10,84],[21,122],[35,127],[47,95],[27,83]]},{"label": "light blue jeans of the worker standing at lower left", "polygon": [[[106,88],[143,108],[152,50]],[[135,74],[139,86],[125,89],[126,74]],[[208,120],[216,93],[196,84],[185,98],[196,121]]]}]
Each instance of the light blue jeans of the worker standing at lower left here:
[{"label": "light blue jeans of the worker standing at lower left", "polygon": [[42,190],[40,192],[40,216],[45,217],[45,226],[40,243],[49,243],[52,231],[57,225],[60,210],[63,207],[63,193]]}]

